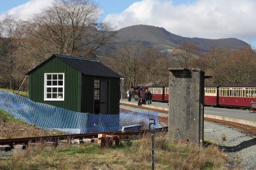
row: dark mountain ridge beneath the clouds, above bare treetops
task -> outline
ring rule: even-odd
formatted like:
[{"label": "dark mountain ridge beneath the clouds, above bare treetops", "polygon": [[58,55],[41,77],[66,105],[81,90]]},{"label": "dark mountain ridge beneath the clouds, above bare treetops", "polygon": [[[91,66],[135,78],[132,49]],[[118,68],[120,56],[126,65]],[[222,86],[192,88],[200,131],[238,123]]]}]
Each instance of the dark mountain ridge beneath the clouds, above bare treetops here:
[{"label": "dark mountain ridge beneath the clouds, above bare treetops", "polygon": [[214,47],[226,47],[228,49],[237,50],[241,47],[248,46],[246,42],[236,38],[188,38],[170,33],[162,27],[149,25],[133,25],[119,29],[117,32],[117,38],[114,40],[116,44],[126,41],[142,42],[144,45],[155,47],[158,50],[174,49],[184,41],[196,43],[201,51],[209,51]]}]

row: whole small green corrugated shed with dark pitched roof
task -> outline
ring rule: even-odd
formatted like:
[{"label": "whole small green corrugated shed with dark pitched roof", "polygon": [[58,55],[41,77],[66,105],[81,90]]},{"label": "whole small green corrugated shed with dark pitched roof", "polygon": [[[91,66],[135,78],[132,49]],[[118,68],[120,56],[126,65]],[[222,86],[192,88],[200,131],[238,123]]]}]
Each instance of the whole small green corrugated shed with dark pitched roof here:
[{"label": "whole small green corrugated shed with dark pitched roof", "polygon": [[27,75],[34,102],[81,113],[119,114],[122,76],[95,59],[54,54]]}]

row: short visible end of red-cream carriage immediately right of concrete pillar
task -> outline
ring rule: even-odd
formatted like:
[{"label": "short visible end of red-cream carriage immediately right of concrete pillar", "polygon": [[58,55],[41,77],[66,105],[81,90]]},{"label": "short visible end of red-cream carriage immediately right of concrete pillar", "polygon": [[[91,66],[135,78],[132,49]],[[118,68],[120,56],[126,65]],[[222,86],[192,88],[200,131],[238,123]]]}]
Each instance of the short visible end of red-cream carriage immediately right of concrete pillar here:
[{"label": "short visible end of red-cream carriage immediately right of concrete pillar", "polygon": [[218,105],[218,88],[221,84],[204,85],[204,105]]}]

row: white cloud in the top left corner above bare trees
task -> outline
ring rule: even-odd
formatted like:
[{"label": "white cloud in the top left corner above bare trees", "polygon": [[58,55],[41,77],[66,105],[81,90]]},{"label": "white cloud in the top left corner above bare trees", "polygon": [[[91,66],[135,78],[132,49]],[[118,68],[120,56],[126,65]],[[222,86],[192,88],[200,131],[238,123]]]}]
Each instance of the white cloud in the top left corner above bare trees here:
[{"label": "white cloud in the top left corner above bare trees", "polygon": [[50,5],[53,1],[54,0],[30,0],[25,4],[3,12],[2,14],[0,14],[0,20],[2,20],[2,18],[4,18],[6,14],[11,16],[17,16],[23,20],[27,20],[32,14],[40,12],[41,8]]}]

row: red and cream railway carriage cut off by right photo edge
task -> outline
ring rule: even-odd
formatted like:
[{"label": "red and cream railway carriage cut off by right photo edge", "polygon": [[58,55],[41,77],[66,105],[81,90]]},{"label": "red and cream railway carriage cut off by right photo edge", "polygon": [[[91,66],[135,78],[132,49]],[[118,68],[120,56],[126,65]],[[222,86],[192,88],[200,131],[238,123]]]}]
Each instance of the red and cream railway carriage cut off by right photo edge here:
[{"label": "red and cream railway carriage cut off by right photo edge", "polygon": [[256,84],[223,84],[218,96],[219,106],[250,108],[250,102],[256,102]]}]

